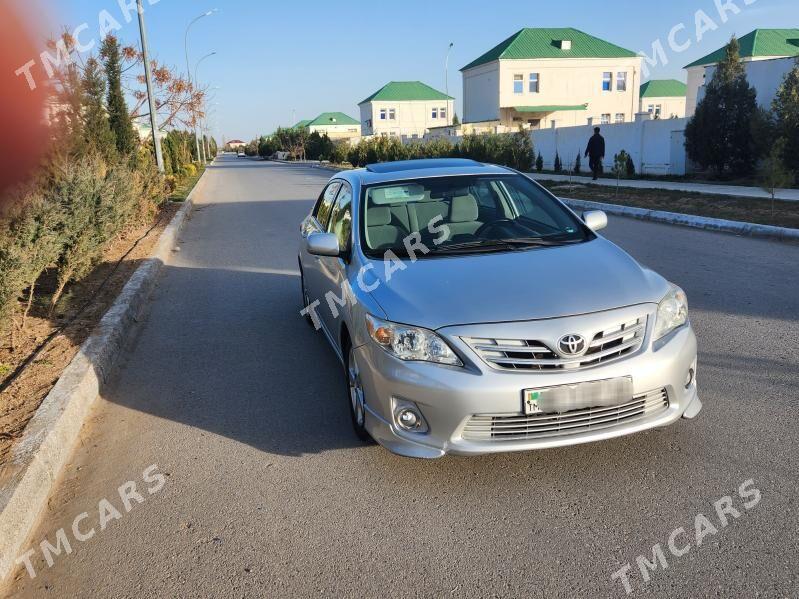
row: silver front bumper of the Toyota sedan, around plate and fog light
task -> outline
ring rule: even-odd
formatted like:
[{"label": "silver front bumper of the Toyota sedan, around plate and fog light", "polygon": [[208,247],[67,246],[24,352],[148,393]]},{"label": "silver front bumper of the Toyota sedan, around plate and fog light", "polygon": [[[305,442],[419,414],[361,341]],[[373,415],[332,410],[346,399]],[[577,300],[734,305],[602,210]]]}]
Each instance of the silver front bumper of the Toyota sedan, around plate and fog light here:
[{"label": "silver front bumper of the Toyota sedan, around plate and fog light", "polygon": [[[653,322],[650,318],[650,330],[635,354],[581,370],[520,372],[491,368],[460,339],[480,336],[469,327],[440,331],[464,359],[462,368],[403,362],[368,342],[355,352],[367,401],[366,427],[377,442],[395,453],[435,458],[445,454],[479,455],[589,443],[666,426],[680,417],[693,418],[702,407],[695,376],[696,336],[687,325],[653,346]],[[568,323],[563,326],[569,330]],[[694,377],[686,387],[689,369],[693,369]],[[524,389],[626,376],[633,379],[634,396],[664,391],[668,405],[647,408],[633,419],[620,419],[618,423],[599,427],[578,426],[565,429],[562,434],[502,438],[489,435],[476,439],[468,432],[467,424],[473,416],[522,417]],[[396,424],[393,412],[398,401],[418,406],[427,424],[425,432],[408,432]]]}]

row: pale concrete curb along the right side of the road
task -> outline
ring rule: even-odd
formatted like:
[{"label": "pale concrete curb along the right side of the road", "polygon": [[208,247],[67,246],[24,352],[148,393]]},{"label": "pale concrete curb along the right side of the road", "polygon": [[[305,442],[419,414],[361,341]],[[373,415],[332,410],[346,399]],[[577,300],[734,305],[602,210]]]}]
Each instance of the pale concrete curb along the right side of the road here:
[{"label": "pale concrete curb along the right side of the road", "polygon": [[648,220],[681,227],[716,231],[719,233],[734,233],[736,235],[746,235],[749,237],[776,239],[778,241],[799,241],[799,229],[788,229],[786,227],[774,227],[771,225],[758,225],[756,223],[739,222],[722,218],[693,216],[690,214],[680,214],[677,212],[664,212],[662,210],[647,210],[646,208],[633,208],[631,206],[605,204],[602,202],[591,202],[588,200],[578,200],[573,198],[560,198],[560,200],[571,208],[577,208],[581,210],[603,210],[608,214],[628,216],[631,218],[637,218],[638,220]]}]

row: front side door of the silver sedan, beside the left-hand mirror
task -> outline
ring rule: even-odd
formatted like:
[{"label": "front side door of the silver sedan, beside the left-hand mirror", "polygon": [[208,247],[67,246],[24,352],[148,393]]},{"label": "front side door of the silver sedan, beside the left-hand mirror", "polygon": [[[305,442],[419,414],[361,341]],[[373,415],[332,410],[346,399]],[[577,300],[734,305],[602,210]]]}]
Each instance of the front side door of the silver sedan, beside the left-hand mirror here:
[{"label": "front side door of the silver sedan, beside the left-hand mirror", "polygon": [[[349,312],[349,302],[345,288],[347,280],[348,254],[352,246],[352,187],[346,181],[341,183],[336,203],[330,217],[327,232],[338,238],[341,256],[323,256],[319,259],[319,270],[324,286],[321,318],[334,343],[338,339],[343,314]],[[346,291],[345,291],[346,289]],[[328,301],[329,300],[329,301]]]}]

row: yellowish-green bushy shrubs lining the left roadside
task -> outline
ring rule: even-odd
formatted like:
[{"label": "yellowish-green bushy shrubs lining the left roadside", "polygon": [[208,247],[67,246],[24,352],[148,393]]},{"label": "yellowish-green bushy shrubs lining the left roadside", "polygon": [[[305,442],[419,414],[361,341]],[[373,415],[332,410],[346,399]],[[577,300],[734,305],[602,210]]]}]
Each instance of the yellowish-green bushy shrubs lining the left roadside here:
[{"label": "yellowish-green bushy shrubs lining the left roadside", "polygon": [[24,323],[49,268],[57,278],[52,311],[66,285],[88,274],[127,227],[151,220],[164,198],[149,156],[133,166],[98,154],[55,159],[37,181],[12,192],[0,219],[0,328],[14,320],[20,298]]}]

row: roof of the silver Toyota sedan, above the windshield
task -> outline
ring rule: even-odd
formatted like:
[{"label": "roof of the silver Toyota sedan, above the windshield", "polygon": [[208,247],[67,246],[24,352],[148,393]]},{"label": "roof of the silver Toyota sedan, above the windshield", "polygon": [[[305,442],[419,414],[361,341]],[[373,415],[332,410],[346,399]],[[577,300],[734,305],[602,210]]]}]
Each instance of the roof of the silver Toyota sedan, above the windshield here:
[{"label": "roof of the silver Toyota sedan, above the windshield", "polygon": [[355,179],[361,185],[374,185],[405,179],[454,177],[458,175],[507,175],[511,169],[462,158],[400,160],[370,164],[366,168],[342,171],[337,177]]}]

